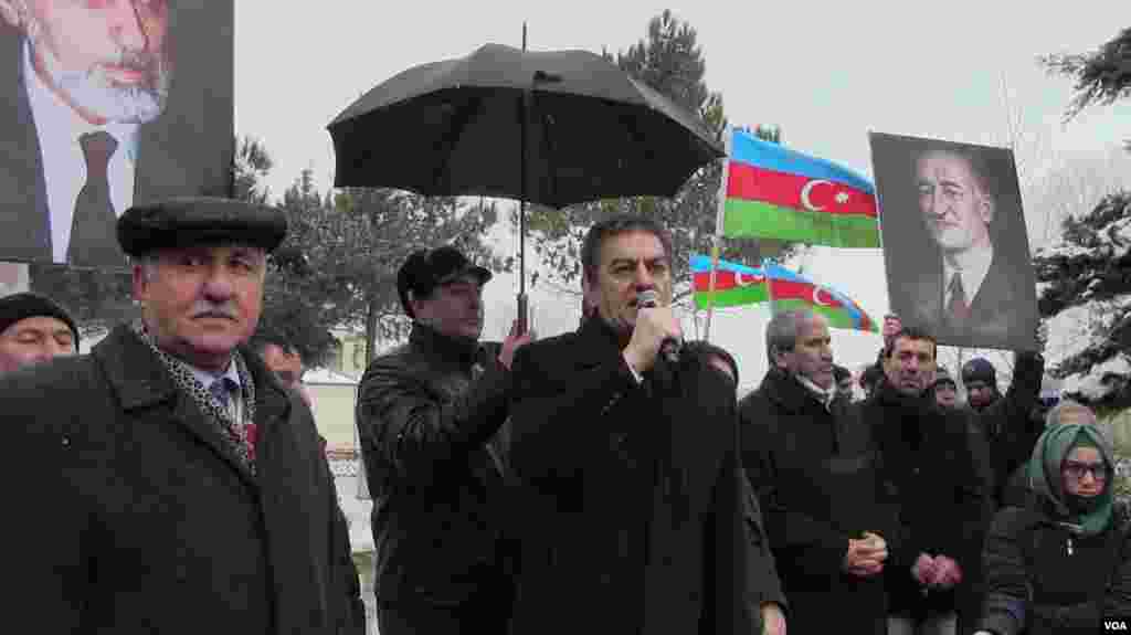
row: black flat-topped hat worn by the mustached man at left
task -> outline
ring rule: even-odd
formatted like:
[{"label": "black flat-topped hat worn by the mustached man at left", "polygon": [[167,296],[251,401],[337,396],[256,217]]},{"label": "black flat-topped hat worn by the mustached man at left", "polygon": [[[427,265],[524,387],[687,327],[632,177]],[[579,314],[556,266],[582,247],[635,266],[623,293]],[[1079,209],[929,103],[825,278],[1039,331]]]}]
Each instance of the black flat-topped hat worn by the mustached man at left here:
[{"label": "black flat-topped hat worn by the mustached man at left", "polygon": [[132,256],[158,249],[238,244],[270,252],[286,237],[286,216],[261,205],[184,197],[139,205],[118,219],[118,244]]}]

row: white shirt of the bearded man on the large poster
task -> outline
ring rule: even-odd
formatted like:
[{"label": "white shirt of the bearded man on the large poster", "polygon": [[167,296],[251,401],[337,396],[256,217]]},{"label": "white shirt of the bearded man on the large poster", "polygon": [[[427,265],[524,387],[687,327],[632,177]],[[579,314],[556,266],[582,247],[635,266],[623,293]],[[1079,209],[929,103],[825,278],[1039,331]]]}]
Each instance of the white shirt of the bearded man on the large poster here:
[{"label": "white shirt of the bearded man on the large poster", "polygon": [[107,122],[94,125],[75,112],[50,87],[32,63],[32,45],[24,41],[24,86],[40,138],[43,181],[46,186],[48,211],[51,219],[52,259],[64,262],[70,244],[75,201],[86,183],[86,160],[79,137],[104,130],[118,141],[107,166],[110,198],[121,216],[133,205],[135,159],[138,148],[138,124]]}]

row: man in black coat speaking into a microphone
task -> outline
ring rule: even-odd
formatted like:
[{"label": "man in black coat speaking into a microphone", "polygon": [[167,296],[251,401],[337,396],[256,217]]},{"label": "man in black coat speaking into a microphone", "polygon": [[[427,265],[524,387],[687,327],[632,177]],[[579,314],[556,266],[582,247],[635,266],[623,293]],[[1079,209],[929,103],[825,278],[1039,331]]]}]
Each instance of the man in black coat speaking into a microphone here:
[{"label": "man in black coat speaking into a microphone", "polygon": [[515,635],[785,632],[734,386],[674,355],[671,254],[648,217],[596,224],[581,249],[590,315],[516,354]]}]

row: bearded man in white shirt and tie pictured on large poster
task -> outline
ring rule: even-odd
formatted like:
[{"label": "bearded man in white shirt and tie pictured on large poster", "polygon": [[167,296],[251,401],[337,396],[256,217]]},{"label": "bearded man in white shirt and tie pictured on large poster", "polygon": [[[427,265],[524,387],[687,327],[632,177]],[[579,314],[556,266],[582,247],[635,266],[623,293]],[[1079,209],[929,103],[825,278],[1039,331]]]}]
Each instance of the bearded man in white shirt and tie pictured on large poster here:
[{"label": "bearded man in white shirt and tie pictured on large poster", "polygon": [[133,203],[139,155],[169,143],[139,128],[170,93],[170,3],[0,0],[0,25],[17,34],[0,47],[7,259],[126,263],[114,223]]}]

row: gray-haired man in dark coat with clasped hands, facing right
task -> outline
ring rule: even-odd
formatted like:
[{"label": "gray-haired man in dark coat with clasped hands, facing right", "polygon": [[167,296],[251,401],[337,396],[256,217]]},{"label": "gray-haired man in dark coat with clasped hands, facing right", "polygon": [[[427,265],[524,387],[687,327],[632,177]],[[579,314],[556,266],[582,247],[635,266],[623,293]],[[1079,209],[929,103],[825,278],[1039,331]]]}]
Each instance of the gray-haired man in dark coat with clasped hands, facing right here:
[{"label": "gray-haired man in dark coat with clasped hands, facing right", "polygon": [[887,633],[881,572],[895,519],[878,503],[867,426],[834,383],[829,328],[811,311],[774,315],[772,367],[739,406],[743,463],[789,599],[789,630]]}]

